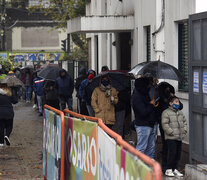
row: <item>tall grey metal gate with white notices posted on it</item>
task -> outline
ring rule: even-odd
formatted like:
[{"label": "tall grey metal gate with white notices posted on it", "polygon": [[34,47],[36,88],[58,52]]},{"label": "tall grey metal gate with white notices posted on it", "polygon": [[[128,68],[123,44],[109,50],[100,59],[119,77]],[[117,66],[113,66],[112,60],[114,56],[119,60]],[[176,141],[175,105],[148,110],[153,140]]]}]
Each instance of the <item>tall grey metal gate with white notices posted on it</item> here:
[{"label": "tall grey metal gate with white notices posted on it", "polygon": [[189,16],[190,160],[207,163],[207,12]]}]

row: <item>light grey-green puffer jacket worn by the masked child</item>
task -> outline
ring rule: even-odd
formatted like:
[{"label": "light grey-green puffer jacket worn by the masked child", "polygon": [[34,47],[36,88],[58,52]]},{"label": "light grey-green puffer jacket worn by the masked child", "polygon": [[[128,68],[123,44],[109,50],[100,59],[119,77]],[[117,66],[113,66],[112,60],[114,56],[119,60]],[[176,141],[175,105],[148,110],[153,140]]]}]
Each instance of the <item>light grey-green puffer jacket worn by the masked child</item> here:
[{"label": "light grey-green puffer jacket worn by the masked child", "polygon": [[187,134],[187,121],[183,112],[169,107],[162,113],[165,139],[182,141]]}]

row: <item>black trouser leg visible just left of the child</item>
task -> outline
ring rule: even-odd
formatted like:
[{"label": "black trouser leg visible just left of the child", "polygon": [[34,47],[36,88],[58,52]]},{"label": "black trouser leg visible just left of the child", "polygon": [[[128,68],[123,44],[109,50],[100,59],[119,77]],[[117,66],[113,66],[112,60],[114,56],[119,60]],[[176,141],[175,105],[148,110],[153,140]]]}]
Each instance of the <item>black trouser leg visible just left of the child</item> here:
[{"label": "black trouser leg visible just left of the child", "polygon": [[159,124],[159,129],[160,129],[161,140],[162,140],[162,170],[163,172],[165,172],[167,169],[168,145],[167,145],[167,141],[165,140],[165,133],[161,124]]}]

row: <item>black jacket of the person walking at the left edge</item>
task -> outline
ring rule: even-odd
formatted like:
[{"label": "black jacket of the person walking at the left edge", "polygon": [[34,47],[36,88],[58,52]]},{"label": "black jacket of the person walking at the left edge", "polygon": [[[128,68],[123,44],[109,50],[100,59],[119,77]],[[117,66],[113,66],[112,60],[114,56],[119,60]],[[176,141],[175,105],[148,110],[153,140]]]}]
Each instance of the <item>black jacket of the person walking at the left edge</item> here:
[{"label": "black jacket of the person walking at the left edge", "polygon": [[15,89],[12,89],[12,96],[7,96],[0,92],[0,119],[13,119],[14,110],[12,104],[17,102],[18,97]]}]

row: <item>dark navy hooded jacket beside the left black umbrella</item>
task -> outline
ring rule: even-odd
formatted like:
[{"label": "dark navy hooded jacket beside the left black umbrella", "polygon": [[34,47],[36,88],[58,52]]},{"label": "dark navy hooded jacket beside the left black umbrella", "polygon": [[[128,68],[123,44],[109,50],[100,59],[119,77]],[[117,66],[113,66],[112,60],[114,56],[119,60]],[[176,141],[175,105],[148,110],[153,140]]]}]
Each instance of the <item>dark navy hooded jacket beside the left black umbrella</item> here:
[{"label": "dark navy hooded jacket beside the left black umbrella", "polygon": [[[65,72],[65,76],[61,77],[61,73]],[[64,69],[61,69],[59,72],[60,76],[56,79],[55,82],[55,91],[59,97],[72,98],[74,83],[72,78],[67,74]]]}]

